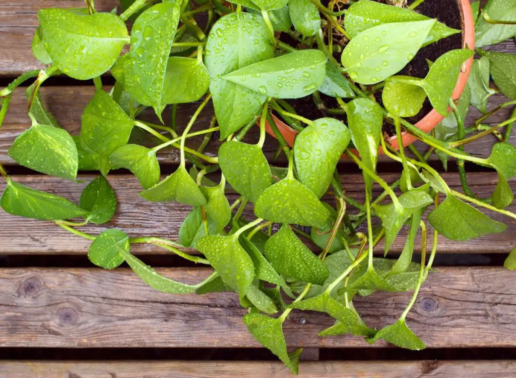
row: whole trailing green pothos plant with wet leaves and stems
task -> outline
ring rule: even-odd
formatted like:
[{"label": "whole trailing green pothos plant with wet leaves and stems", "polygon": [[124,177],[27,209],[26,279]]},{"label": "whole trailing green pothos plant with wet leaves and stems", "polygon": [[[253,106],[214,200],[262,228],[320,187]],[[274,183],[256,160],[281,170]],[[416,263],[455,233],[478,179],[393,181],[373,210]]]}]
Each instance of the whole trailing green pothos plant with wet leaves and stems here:
[{"label": "whole trailing green pothos plant with wet leaves and stems", "polygon": [[[498,90],[516,99],[516,57],[477,50],[481,57],[474,61],[469,85],[460,101],[454,102],[450,97],[462,64],[473,56],[472,46],[445,52],[429,62],[425,78],[397,74],[423,47],[460,33],[418,13],[421,0],[408,6],[370,0],[331,0],[327,5],[318,0],[121,3],[120,16],[117,9],[97,12],[93,0],[87,0],[85,8],[40,10],[33,52],[47,66],[22,74],[0,92],[1,125],[13,90],[36,78],[27,87],[32,125],[9,149],[12,159],[63,179],[77,180],[78,170],[96,170],[101,175],[86,186],[77,205],[16,183],[0,166],[6,180],[3,209],[13,215],[52,220],[91,240],[88,256],[94,264],[112,269],[125,261],[156,290],[236,292],[241,305],[249,309],[244,316],[249,331],[293,372],[298,370],[300,350],[287,353],[282,332],[293,310],[333,317],[335,324],[320,336],[352,334],[370,343],[383,339],[423,349],[424,343],[409,329],[406,317],[431,269],[438,235],[467,240],[506,229],[477,207],[516,219],[505,209],[513,201],[508,180],[516,174],[516,149],[508,141],[516,113],[493,127],[482,124],[489,115],[516,103],[487,111],[489,96]],[[507,11],[506,3],[489,1],[481,16],[478,2],[473,4],[478,48],[516,34],[516,8],[511,3]],[[204,27],[198,24],[201,19]],[[134,21],[131,34],[127,20]],[[295,46],[284,42],[285,35],[296,41]],[[126,44],[128,52],[121,55]],[[106,92],[101,75],[108,70],[116,83]],[[71,136],[61,129],[43,107],[39,88],[56,74],[93,79],[96,92],[84,109],[80,135]],[[490,88],[490,75],[499,89]],[[345,115],[347,126],[331,117],[302,117],[285,101],[313,96],[315,106],[321,94],[335,99],[338,108],[333,114]],[[381,94],[381,101],[375,94]],[[432,135],[406,119],[421,110],[426,98],[446,115]],[[177,106],[195,101],[200,101],[199,106],[179,133]],[[215,110],[211,124],[192,129],[208,102]],[[485,115],[466,129],[463,119],[470,103]],[[170,126],[139,119],[144,109],[152,108],[161,120],[168,105]],[[447,115],[449,108],[452,112]],[[273,114],[299,131],[293,148],[283,139]],[[394,125],[399,150],[386,141],[384,122]],[[259,140],[241,142],[256,123]],[[267,124],[279,140],[278,154],[287,158],[287,168],[269,165],[262,152]],[[499,131],[504,126],[505,135]],[[135,128],[159,142],[151,147],[130,143]],[[206,155],[203,150],[215,132],[223,141],[218,156]],[[407,156],[402,132],[425,142],[427,152],[422,155],[413,150],[416,158]],[[488,158],[463,151],[465,144],[488,134],[499,139]],[[204,135],[203,143],[197,149],[188,147],[187,141],[196,135]],[[166,147],[180,150],[180,165],[160,179],[156,153]],[[401,177],[394,183],[386,183],[377,174],[379,147],[402,166]],[[444,164],[448,156],[457,159],[463,193],[450,188],[428,165],[427,158],[434,152]],[[364,203],[348,198],[342,188],[336,164],[343,154],[363,172]],[[478,198],[467,185],[466,161],[498,173],[490,198]],[[112,228],[99,235],[80,231],[90,222],[106,223],[115,214],[117,201],[105,176],[119,168],[136,176],[142,198],[193,207],[177,240],[129,237]],[[383,192],[373,198],[377,184]],[[240,194],[232,204],[225,196],[230,188]],[[323,196],[334,201],[321,202]],[[242,215],[250,204],[256,218],[245,220]],[[350,207],[358,210],[349,211]],[[427,211],[432,237],[423,220]],[[379,218],[378,226],[373,227],[373,218]],[[381,239],[387,254],[406,224],[409,232],[399,258],[374,256]],[[273,233],[272,225],[278,225],[278,231]],[[422,256],[417,264],[412,257],[420,229]],[[432,247],[427,259],[428,238]],[[322,252],[309,250],[303,243],[307,239]],[[193,285],[163,277],[131,254],[131,245],[137,243],[150,243],[212,266],[213,274]],[[197,249],[202,256],[187,253],[185,248]],[[516,267],[516,252],[506,266]],[[353,307],[356,295],[378,290],[413,292],[399,319],[379,330],[368,327]]]}]

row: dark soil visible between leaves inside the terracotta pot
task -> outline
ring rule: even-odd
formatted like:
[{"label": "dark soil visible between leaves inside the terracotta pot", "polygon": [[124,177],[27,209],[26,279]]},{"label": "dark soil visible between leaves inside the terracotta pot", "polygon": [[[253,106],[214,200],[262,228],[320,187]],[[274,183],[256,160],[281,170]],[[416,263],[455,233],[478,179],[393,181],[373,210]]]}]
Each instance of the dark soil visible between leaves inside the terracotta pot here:
[{"label": "dark soil visible between leaves inside the terracotta pot", "polygon": [[[385,3],[384,0],[376,0],[380,3]],[[408,3],[412,3],[413,0],[409,0]],[[328,5],[328,0],[322,0],[322,4],[325,6]],[[453,27],[455,29],[462,29],[462,17],[461,11],[459,8],[458,0],[425,0],[421,5],[417,6],[416,11],[424,14],[427,17],[435,18],[443,24]],[[286,35],[282,33],[282,35]],[[286,35],[285,42],[291,44],[291,42],[295,42],[289,40],[289,36]],[[460,49],[462,47],[462,34],[455,34],[453,36],[449,36],[447,38],[443,38],[436,43],[432,43],[427,47],[424,47],[420,51],[417,52],[415,57],[411,62],[405,66],[404,69],[399,71],[400,75],[409,75],[416,78],[424,78],[428,73],[428,63],[426,59],[429,61],[435,62],[436,59],[450,50]],[[282,38],[283,39],[283,38]],[[340,54],[338,54],[340,55]],[[337,61],[340,61],[340,56],[336,56]],[[381,92],[378,92],[375,95],[375,98],[378,103],[382,103],[381,101]],[[321,94],[322,102],[325,104],[326,108],[338,108],[337,102],[334,98],[325,96]],[[303,117],[307,117],[309,119],[317,119],[320,117],[330,116],[336,119],[341,120],[342,122],[346,122],[345,115],[328,115],[325,114],[324,111],[321,111],[316,108],[315,103],[313,101],[312,96],[303,97],[296,100],[287,100],[296,110],[299,115]],[[428,114],[432,110],[432,105],[428,98],[423,103],[423,108],[421,111],[407,120],[411,123],[416,123],[419,120],[423,119],[423,117]],[[389,135],[393,135],[394,127],[384,122],[383,129]]]}]

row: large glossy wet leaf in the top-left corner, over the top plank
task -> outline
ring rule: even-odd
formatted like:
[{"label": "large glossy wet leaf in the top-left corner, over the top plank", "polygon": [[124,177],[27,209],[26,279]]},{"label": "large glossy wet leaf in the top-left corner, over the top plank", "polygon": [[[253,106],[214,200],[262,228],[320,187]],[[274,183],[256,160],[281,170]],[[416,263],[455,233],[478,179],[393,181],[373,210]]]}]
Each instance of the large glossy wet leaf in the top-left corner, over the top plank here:
[{"label": "large glossy wet leaf in the top-left corner, over the top plank", "polygon": [[38,12],[44,46],[69,77],[88,80],[106,72],[128,42],[124,22],[111,13],[80,16],[67,9]]}]

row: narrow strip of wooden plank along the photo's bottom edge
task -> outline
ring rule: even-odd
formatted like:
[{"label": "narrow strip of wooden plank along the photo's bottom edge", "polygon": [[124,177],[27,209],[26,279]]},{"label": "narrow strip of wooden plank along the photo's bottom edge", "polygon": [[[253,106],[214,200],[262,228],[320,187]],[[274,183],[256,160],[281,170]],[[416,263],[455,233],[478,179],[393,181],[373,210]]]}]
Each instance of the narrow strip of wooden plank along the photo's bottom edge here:
[{"label": "narrow strip of wooden plank along the photo's bottom edge", "polygon": [[[0,361],[4,378],[291,378],[274,361]],[[510,378],[512,360],[301,362],[299,378]]]}]

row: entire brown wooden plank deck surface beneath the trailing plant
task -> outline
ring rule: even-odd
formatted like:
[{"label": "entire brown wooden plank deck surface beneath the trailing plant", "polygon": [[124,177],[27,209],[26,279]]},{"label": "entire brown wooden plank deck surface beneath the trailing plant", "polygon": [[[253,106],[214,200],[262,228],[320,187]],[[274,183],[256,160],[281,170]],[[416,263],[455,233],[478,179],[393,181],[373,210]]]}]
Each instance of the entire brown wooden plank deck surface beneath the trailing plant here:
[{"label": "entire brown wooden plank deck surface beneath the trailing plant", "polygon": [[[23,71],[43,66],[32,56],[30,44],[38,26],[37,10],[45,7],[82,7],[82,0],[0,0],[0,81],[7,84]],[[118,5],[116,0],[96,0],[98,10],[110,10]],[[496,51],[516,53],[514,40],[508,40],[492,48]],[[110,79],[107,79],[110,80]],[[74,84],[74,85],[72,85]],[[76,84],[76,85],[75,85]],[[52,78],[41,88],[47,108],[59,124],[78,134],[82,111],[94,92],[88,82],[63,82]],[[502,95],[490,99],[490,109],[505,102]],[[196,104],[182,105],[179,110],[179,129],[197,108]],[[507,108],[490,117],[486,124],[497,124],[507,119],[512,109]],[[169,122],[170,112],[165,114]],[[199,127],[206,126],[212,111],[202,113]],[[480,113],[472,109],[466,119],[466,127],[473,125]],[[156,120],[152,112],[144,113],[143,119]],[[84,183],[72,183],[59,178],[42,176],[17,167],[7,156],[7,149],[14,139],[30,125],[26,114],[25,88],[15,91],[11,109],[0,130],[0,162],[15,173],[19,183],[56,193],[72,201],[78,201],[80,192],[94,176],[80,174]],[[140,135],[134,134],[134,138]],[[247,141],[256,141],[258,130],[251,130]],[[189,140],[193,148],[201,138]],[[516,143],[516,135],[511,142]],[[483,138],[466,146],[466,151],[475,156],[488,156],[495,139]],[[207,154],[216,154],[220,142],[212,141]],[[424,148],[416,144],[418,148]],[[277,142],[267,137],[265,153],[273,164],[284,165],[285,161],[272,162]],[[172,172],[179,162],[176,149],[160,151],[164,173]],[[440,163],[433,156],[435,167]],[[399,166],[381,158],[382,177],[394,180]],[[347,194],[363,201],[363,180],[349,162],[343,162],[339,171]],[[351,173],[350,173],[351,171]],[[450,187],[460,190],[457,172],[444,173]],[[177,203],[156,204],[143,201],[137,180],[127,172],[110,175],[120,206],[115,218],[106,225],[87,226],[85,232],[97,234],[107,227],[123,229],[130,236],[161,236],[176,238],[181,221],[190,210]],[[488,196],[496,186],[496,175],[480,170],[469,175],[474,192]],[[516,180],[511,182],[514,186]],[[0,190],[4,183],[0,182]],[[378,192],[379,188],[375,188]],[[229,198],[236,194],[229,193]],[[329,200],[329,198],[328,198]],[[510,210],[516,211],[516,205]],[[251,209],[244,217],[251,217]],[[152,217],[149,217],[149,214]],[[343,352],[339,361],[303,361],[301,377],[471,377],[498,378],[516,376],[516,362],[499,354],[496,359],[473,360],[483,350],[516,347],[516,275],[501,264],[471,266],[476,256],[503,256],[516,245],[516,222],[499,214],[490,214],[493,219],[504,221],[508,230],[502,235],[490,235],[469,242],[439,239],[439,253],[453,254],[447,265],[437,267],[425,282],[421,294],[407,321],[409,326],[430,348],[424,356],[404,360],[404,351],[395,351],[395,359],[346,360]],[[399,253],[407,230],[402,230],[392,251]],[[0,211],[0,377],[63,377],[63,378],[140,378],[140,377],[283,377],[290,376],[277,361],[207,361],[174,360],[173,353],[164,360],[129,361],[110,358],[110,350],[131,348],[256,348],[257,344],[241,322],[245,310],[232,293],[216,293],[203,296],[169,295],[156,292],[142,283],[131,270],[117,268],[106,271],[85,267],[84,260],[89,243],[74,237],[52,222],[23,219]],[[416,251],[419,247],[416,242]],[[381,252],[382,245],[378,246]],[[135,254],[147,255],[142,259],[165,254],[163,249],[149,245],[136,245]],[[193,251],[189,251],[193,252]],[[49,256],[51,265],[42,267],[36,255]],[[11,266],[9,261],[17,258]],[[77,260],[78,259],[78,260]],[[160,256],[160,261],[166,261]],[[491,258],[485,260],[490,261]],[[503,261],[493,258],[495,261]],[[35,263],[38,261],[38,263]],[[77,263],[77,266],[74,264]],[[172,261],[172,260],[171,260]],[[174,279],[193,283],[209,274],[208,268],[186,267],[165,262],[163,273]],[[52,265],[54,264],[54,265]],[[44,264],[43,264],[44,265]],[[470,265],[470,266],[464,266]],[[357,300],[357,309],[372,326],[381,327],[392,323],[410,300],[410,293],[374,295]],[[315,312],[293,312],[284,324],[287,344],[304,346],[314,352],[327,348],[344,348],[346,351],[382,351],[392,347],[378,342],[371,346],[354,337],[318,338],[317,332],[332,324],[331,319]],[[70,348],[77,351],[77,359],[50,360],[39,357],[38,350]],[[106,350],[105,360],[88,360],[81,349]],[[433,360],[439,350],[462,349],[461,359]],[[9,359],[13,351],[22,351],[23,357]],[[25,352],[26,351],[26,354]],[[171,350],[173,351],[173,350]],[[476,351],[469,354],[468,351]],[[11,353],[11,354],[12,354]],[[18,353],[18,352],[17,352]],[[57,352],[56,352],[57,353]],[[245,352],[244,352],[245,353]],[[367,352],[357,352],[367,353]],[[504,352],[505,353],[505,352]],[[47,354],[45,354],[46,356]],[[56,354],[57,355],[57,354]],[[370,354],[369,354],[370,355]],[[489,356],[492,356],[490,354]],[[414,355],[411,355],[414,356]],[[423,355],[422,355],[423,356]],[[80,357],[80,360],[79,360]],[[231,356],[230,356],[231,357]],[[228,359],[230,359],[228,357]],[[8,359],[6,359],[8,358]],[[23,359],[20,359],[23,358]],[[57,357],[56,357],[57,358]],[[488,357],[480,357],[488,358]],[[489,357],[491,358],[491,357]],[[202,358],[199,358],[202,359]]]}]

